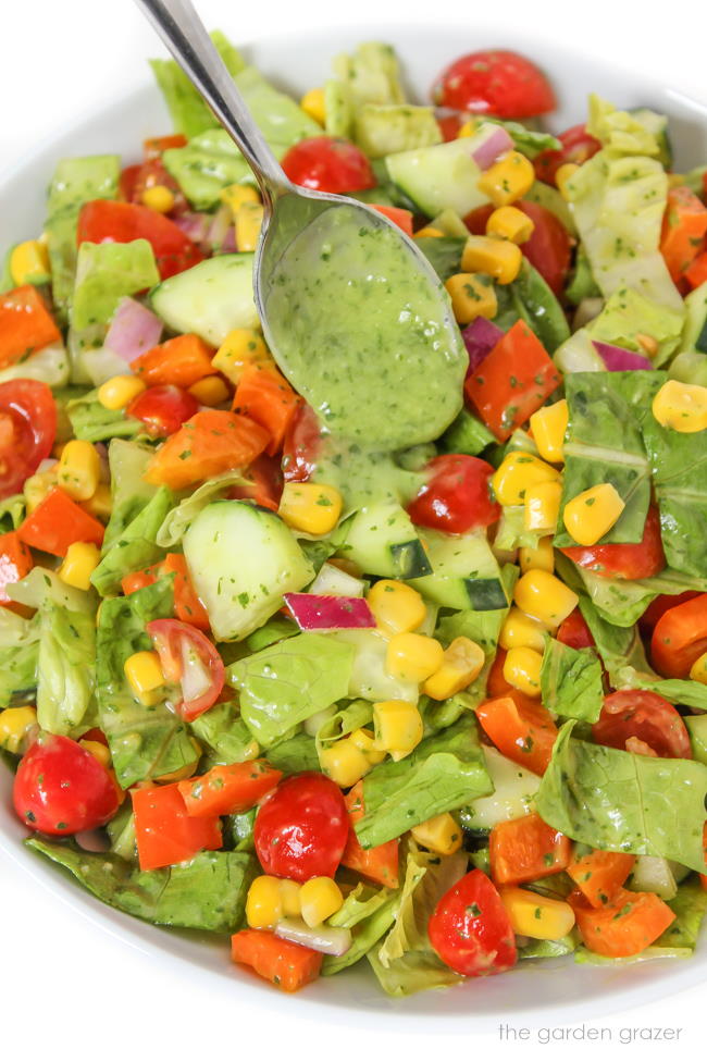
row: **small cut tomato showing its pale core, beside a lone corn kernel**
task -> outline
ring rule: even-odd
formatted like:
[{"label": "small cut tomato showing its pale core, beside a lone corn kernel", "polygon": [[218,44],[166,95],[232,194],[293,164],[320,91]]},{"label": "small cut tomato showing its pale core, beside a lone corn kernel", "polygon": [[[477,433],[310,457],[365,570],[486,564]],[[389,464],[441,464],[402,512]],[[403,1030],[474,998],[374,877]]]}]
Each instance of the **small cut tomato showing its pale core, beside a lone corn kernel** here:
[{"label": "small cut tomato showing its pale core, beside a lone corn kernel", "polygon": [[182,686],[174,710],[194,721],[213,707],[223,689],[226,671],[214,645],[200,630],[179,619],[153,619],[147,632],[160,656],[164,677]]}]

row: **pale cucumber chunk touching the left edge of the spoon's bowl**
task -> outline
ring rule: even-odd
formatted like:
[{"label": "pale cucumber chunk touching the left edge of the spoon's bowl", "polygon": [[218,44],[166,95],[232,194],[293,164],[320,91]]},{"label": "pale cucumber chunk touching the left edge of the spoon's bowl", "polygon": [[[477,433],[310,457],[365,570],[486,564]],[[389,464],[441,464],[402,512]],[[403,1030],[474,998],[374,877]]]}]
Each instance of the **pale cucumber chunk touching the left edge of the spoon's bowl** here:
[{"label": "pale cucumber chunk touching the left edge of the spoon's bowl", "polygon": [[258,328],[252,297],[255,255],[219,255],[158,284],[154,312],[174,332],[195,332],[221,346],[234,328]]}]

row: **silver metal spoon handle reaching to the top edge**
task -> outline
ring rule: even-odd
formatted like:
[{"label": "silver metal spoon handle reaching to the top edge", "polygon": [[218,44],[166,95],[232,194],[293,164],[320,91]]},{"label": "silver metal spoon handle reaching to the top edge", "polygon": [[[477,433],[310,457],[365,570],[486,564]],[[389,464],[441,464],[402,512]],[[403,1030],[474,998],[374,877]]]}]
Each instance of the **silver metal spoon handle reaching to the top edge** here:
[{"label": "silver metal spoon handle reaching to the top edge", "polygon": [[289,182],[190,0],[136,0],[136,3],[243,151],[263,198],[272,202]]}]

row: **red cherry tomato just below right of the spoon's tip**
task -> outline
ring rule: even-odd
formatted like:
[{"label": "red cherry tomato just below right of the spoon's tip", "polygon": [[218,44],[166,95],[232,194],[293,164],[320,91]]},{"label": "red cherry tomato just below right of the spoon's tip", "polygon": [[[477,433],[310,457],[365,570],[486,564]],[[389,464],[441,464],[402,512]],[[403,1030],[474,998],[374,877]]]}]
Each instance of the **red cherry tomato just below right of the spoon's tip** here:
[{"label": "red cherry tomato just below right of the spoon's tip", "polygon": [[489,489],[494,469],[485,460],[450,453],[435,457],[426,470],[430,479],[408,506],[413,523],[463,534],[500,519],[500,505],[492,499]]}]

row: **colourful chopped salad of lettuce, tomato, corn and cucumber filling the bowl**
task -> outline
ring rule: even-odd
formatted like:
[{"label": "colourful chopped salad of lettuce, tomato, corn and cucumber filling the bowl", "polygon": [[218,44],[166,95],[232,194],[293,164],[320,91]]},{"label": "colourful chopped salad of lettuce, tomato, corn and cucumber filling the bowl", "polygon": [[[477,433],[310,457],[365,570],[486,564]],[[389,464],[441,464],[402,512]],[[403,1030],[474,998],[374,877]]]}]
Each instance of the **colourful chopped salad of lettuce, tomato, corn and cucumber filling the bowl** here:
[{"label": "colourful chopped salad of lettuce, tomato, corn and cucumber filling the bowl", "polygon": [[[288,177],[405,237],[298,245],[284,357],[253,304],[257,185],[173,62],[175,132],[140,162],[59,161],[0,284],[25,842],[286,991],[357,963],[400,997],[689,957],[707,166],[675,172],[662,115],[598,96],[547,132],[553,86],[513,52],[417,104],[363,44],[298,102],[214,41]],[[396,279],[405,238],[446,346]]]}]

